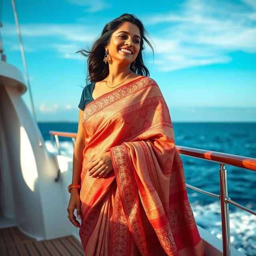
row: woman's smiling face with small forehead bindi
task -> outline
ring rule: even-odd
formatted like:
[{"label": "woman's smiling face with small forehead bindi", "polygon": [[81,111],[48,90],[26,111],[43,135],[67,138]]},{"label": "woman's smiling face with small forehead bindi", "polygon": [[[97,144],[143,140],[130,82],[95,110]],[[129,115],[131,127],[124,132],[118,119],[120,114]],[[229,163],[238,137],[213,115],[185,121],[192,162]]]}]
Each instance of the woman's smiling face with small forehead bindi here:
[{"label": "woman's smiling face with small forehead bindi", "polygon": [[[126,48],[132,53],[123,52]],[[137,57],[140,50],[140,30],[131,22],[124,22],[120,28],[113,32],[108,46],[109,60],[127,62],[131,64]]]}]

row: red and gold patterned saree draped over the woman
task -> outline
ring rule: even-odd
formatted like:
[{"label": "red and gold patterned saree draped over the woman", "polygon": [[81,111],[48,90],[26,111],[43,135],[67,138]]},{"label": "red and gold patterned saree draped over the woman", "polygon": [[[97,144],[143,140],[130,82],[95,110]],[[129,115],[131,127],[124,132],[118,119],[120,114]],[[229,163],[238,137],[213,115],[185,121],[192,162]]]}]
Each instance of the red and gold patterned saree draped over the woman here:
[{"label": "red and gold patterned saree draped over the woman", "polygon": [[[205,256],[158,84],[141,76],[84,108],[81,227],[86,256]],[[88,175],[110,152],[114,170]]]}]

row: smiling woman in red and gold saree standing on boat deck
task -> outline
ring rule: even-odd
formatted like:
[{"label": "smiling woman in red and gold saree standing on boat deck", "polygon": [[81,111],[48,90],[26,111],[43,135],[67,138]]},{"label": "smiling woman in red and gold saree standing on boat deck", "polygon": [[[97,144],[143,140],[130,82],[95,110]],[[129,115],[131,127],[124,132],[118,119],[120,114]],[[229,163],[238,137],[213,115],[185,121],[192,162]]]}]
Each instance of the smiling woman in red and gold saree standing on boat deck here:
[{"label": "smiling woman in red and gold saree standing on boat deck", "polygon": [[203,256],[169,110],[143,64],[144,34],[123,14],[80,51],[92,99],[83,106],[82,94],[68,217],[86,256]]}]

